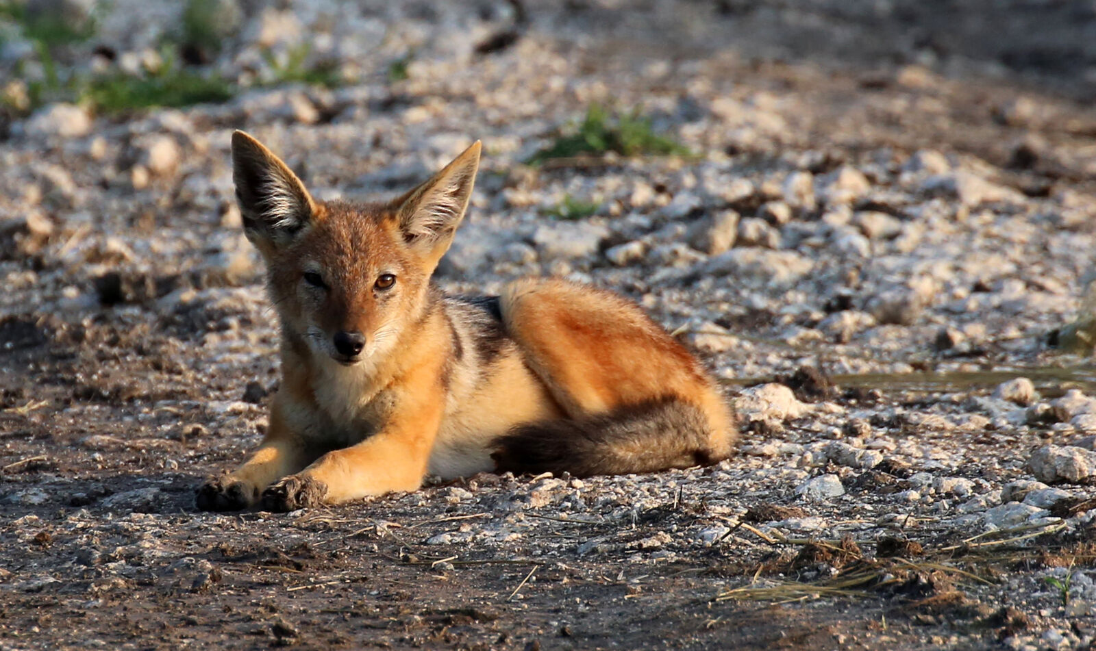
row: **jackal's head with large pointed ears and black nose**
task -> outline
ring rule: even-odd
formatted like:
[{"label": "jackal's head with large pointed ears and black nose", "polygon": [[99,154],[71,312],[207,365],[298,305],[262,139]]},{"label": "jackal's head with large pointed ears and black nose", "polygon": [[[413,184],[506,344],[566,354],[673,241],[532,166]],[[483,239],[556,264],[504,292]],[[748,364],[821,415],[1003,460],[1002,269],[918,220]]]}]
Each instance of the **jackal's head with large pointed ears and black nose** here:
[{"label": "jackal's head with large pointed ears and black nose", "polygon": [[318,202],[274,153],[232,134],[248,239],[290,342],[344,365],[391,350],[426,305],[430,276],[468,207],[477,141],[429,181],[381,204]]}]

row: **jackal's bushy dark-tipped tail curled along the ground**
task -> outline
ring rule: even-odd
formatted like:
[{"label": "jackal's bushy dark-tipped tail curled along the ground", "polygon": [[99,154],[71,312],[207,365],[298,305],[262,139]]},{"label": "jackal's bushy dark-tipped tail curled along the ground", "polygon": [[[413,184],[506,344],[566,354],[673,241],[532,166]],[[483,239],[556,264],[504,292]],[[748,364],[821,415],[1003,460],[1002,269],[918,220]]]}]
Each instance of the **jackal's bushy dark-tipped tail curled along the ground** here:
[{"label": "jackal's bushy dark-tipped tail curled along the ground", "polygon": [[498,439],[492,457],[500,472],[589,477],[706,466],[727,458],[730,447],[729,433],[711,432],[699,408],[664,399],[521,425]]}]

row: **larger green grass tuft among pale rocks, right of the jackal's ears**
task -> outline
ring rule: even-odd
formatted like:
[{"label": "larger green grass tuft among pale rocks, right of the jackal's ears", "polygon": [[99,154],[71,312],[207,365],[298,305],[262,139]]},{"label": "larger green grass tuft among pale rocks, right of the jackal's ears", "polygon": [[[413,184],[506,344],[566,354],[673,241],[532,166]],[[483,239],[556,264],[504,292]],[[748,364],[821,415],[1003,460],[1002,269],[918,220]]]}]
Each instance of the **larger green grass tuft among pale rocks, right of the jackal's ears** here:
[{"label": "larger green grass tuft among pale rocks, right of the jackal's ears", "polygon": [[651,121],[637,111],[610,113],[594,104],[573,134],[560,135],[527,162],[535,165],[553,158],[603,156],[609,151],[628,157],[689,155],[688,148],[681,142],[655,134]]}]

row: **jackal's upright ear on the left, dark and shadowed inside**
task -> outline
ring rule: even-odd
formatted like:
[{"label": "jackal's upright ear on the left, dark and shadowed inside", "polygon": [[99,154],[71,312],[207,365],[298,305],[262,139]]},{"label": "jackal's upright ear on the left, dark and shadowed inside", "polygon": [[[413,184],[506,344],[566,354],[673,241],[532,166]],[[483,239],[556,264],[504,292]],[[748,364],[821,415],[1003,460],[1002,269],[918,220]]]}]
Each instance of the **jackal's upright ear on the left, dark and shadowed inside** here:
[{"label": "jackal's upright ear on the left, dark and shadowed inside", "polygon": [[282,159],[243,132],[232,134],[232,181],[251,241],[288,241],[316,210],[305,184]]}]

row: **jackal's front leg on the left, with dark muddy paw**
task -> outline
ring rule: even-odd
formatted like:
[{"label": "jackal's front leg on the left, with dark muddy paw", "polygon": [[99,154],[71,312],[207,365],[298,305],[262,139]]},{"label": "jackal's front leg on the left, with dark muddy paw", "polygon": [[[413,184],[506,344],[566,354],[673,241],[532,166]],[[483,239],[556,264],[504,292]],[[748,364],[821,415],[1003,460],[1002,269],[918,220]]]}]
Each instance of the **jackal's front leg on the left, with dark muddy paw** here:
[{"label": "jackal's front leg on the left, with dark muddy paw", "polygon": [[271,407],[270,426],[259,449],[236,470],[210,477],[198,488],[195,503],[201,511],[247,509],[259,501],[263,489],[312,460],[285,425],[276,400]]}]

